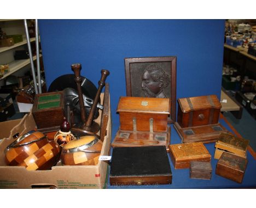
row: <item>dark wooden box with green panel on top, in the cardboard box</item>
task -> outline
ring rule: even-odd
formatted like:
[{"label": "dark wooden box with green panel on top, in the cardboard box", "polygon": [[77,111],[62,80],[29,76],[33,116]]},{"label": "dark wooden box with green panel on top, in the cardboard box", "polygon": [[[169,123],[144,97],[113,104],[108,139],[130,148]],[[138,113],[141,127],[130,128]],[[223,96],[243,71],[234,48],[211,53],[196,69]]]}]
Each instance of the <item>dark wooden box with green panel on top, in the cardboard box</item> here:
[{"label": "dark wooden box with green panel on top, in the cardboard box", "polygon": [[35,95],[32,114],[39,131],[59,130],[65,116],[62,91]]}]

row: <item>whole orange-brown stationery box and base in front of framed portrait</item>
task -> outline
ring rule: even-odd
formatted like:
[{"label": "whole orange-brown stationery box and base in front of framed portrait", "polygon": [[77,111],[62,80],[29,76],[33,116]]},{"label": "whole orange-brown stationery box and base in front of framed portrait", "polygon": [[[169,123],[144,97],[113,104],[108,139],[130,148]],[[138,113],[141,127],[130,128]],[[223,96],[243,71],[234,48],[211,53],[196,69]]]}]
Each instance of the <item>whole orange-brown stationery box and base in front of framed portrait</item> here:
[{"label": "whole orange-brown stationery box and base in front of framed portrait", "polygon": [[171,100],[152,97],[120,97],[120,128],[112,146],[158,146],[168,150],[171,128],[167,126]]}]

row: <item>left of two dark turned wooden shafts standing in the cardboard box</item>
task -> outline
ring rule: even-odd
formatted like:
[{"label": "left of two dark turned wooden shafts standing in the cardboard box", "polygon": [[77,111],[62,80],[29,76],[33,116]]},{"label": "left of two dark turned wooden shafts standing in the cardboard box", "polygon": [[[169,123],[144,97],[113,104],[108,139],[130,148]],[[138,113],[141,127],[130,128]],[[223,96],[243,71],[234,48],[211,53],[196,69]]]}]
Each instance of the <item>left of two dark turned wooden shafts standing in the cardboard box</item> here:
[{"label": "left of two dark turned wooden shafts standing in the cardboard box", "polygon": [[72,64],[71,69],[74,71],[74,75],[75,75],[74,81],[77,83],[81,119],[85,124],[86,122],[85,107],[84,107],[83,91],[81,87],[82,77],[80,76],[80,71],[82,69],[82,66],[81,64]]}]

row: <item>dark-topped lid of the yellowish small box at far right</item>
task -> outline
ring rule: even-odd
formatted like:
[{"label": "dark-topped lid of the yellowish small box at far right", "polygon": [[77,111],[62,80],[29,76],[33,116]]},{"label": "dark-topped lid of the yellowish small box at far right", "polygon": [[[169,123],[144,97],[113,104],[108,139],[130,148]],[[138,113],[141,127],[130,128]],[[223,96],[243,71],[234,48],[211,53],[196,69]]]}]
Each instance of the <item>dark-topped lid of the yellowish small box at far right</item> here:
[{"label": "dark-topped lid of the yellowish small box at far right", "polygon": [[248,144],[249,140],[247,139],[235,137],[227,133],[221,133],[218,141],[216,142],[216,147],[223,150],[230,150],[231,152],[233,152],[232,149],[246,152]]}]

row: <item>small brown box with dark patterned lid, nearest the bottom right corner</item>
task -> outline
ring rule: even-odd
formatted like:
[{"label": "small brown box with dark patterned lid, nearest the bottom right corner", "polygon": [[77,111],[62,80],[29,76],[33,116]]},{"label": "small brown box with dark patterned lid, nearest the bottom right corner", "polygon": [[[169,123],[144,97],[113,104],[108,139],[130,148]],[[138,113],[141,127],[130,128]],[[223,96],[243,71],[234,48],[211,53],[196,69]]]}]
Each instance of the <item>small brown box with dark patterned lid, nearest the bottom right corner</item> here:
[{"label": "small brown box with dark patterned lid, nearest the bottom right corner", "polygon": [[216,166],[216,174],[241,183],[247,162],[246,158],[223,152]]}]

